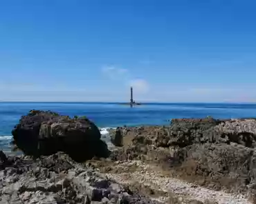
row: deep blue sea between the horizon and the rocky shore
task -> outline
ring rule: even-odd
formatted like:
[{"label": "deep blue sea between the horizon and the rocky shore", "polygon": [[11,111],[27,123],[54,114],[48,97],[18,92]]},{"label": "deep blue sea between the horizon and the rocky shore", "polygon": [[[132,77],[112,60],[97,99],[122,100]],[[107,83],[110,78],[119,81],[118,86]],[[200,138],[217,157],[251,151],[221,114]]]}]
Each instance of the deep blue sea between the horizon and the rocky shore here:
[{"label": "deep blue sea between the horizon and the rocky shore", "polygon": [[11,131],[29,110],[51,110],[68,116],[86,116],[109,143],[108,129],[118,126],[167,125],[174,118],[217,119],[256,117],[254,103],[147,103],[130,108],[118,103],[0,103],[0,148],[10,151]]}]

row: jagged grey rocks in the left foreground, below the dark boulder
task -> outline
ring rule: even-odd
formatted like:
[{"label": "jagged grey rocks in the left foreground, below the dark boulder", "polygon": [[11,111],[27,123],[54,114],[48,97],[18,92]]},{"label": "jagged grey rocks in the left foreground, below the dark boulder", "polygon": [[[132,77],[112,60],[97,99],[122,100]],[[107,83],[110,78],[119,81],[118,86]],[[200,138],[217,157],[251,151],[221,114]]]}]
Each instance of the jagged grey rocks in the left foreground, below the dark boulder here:
[{"label": "jagged grey rocks in the left foreground, below the dark boulder", "polygon": [[7,160],[0,169],[0,204],[157,203],[60,152],[37,161],[25,156]]}]

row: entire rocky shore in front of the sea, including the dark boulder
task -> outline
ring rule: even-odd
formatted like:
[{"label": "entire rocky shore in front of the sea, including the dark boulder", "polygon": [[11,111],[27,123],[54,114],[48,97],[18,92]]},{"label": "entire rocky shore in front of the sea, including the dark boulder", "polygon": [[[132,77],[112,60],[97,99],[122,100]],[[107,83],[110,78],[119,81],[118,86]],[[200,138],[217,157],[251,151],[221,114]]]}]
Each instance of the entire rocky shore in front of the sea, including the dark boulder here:
[{"label": "entire rocky shore in front of the sea, including the dark boulder", "polygon": [[[0,203],[256,203],[256,120],[173,119],[109,130],[31,111],[0,152]],[[32,145],[32,146],[31,146]]]}]

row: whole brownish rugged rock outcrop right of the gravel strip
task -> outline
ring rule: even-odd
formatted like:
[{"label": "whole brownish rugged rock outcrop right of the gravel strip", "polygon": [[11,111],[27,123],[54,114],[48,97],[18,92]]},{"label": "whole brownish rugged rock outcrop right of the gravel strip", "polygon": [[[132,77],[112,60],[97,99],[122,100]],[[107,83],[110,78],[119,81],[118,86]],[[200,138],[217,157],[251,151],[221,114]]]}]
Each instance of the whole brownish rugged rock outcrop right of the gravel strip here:
[{"label": "whole brownish rugged rock outcrop right of the gravel strip", "polygon": [[255,119],[174,119],[171,125],[122,128],[113,160],[158,163],[172,176],[215,190],[256,190]]}]

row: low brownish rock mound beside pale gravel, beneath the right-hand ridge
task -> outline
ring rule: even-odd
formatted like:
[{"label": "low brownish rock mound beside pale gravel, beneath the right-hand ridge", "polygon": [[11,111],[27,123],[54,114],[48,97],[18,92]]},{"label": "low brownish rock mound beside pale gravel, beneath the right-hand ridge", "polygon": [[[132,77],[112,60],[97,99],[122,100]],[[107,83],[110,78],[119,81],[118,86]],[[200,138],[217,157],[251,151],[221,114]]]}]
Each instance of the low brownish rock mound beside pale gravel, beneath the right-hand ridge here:
[{"label": "low brownish rock mound beside pale gravel, beneath the right-hand ridge", "polygon": [[204,143],[177,148],[161,165],[176,176],[215,190],[232,192],[247,189],[255,183],[255,150],[231,143]]}]

